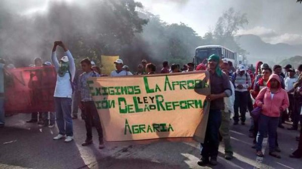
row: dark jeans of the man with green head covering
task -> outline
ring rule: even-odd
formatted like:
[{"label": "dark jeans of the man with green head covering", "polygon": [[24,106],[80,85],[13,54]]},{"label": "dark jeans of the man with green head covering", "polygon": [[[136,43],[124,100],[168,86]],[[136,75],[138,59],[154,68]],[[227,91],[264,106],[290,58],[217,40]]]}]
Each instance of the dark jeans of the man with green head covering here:
[{"label": "dark jeans of the man with green head covering", "polygon": [[219,147],[219,127],[221,123],[221,111],[210,110],[206,126],[204,143],[201,143],[201,156],[204,158],[217,157]]}]

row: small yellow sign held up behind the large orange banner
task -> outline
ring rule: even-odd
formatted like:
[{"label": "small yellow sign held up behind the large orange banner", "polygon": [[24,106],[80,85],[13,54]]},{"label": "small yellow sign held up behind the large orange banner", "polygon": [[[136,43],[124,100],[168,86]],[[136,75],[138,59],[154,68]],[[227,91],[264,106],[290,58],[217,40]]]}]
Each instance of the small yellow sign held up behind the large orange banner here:
[{"label": "small yellow sign held up behind the large orange banner", "polygon": [[110,73],[115,70],[115,64],[113,64],[113,62],[115,62],[117,59],[119,59],[119,56],[105,56],[105,55],[102,55],[101,56],[101,63],[102,63],[101,71],[102,71],[102,74],[110,75]]}]

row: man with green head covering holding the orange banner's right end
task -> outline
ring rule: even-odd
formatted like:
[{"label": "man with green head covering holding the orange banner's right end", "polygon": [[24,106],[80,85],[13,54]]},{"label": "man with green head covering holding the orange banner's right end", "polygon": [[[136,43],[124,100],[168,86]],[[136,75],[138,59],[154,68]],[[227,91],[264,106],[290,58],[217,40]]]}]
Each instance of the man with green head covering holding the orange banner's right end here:
[{"label": "man with green head covering holding the orange banner's right end", "polygon": [[[229,77],[219,68],[220,58],[211,55],[208,59],[208,71],[210,73],[211,94],[206,97],[210,102],[210,111],[206,127],[204,142],[201,143],[201,158],[198,165],[217,165],[218,132],[221,123],[221,111],[224,109],[223,98],[232,95]],[[210,159],[209,159],[210,158]]]}]

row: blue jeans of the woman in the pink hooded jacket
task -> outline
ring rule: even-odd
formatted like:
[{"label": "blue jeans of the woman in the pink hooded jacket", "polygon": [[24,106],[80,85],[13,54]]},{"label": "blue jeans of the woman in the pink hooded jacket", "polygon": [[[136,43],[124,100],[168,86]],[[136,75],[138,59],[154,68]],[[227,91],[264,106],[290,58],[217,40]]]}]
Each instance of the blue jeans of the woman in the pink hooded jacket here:
[{"label": "blue jeans of the woman in the pink hooded jacket", "polygon": [[279,124],[279,117],[269,117],[261,114],[258,119],[259,129],[257,134],[257,151],[262,150],[264,134],[268,133],[269,152],[275,151],[276,133]]}]

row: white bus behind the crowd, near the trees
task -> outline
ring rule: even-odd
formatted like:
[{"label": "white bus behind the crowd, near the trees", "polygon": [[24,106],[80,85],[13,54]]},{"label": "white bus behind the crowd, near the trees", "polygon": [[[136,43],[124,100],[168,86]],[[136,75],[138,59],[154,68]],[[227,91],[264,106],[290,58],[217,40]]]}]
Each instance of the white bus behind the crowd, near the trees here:
[{"label": "white bus behind the crowd, near the trees", "polygon": [[237,53],[220,45],[206,45],[206,46],[197,47],[195,50],[195,56],[193,58],[193,63],[195,65],[195,68],[197,65],[203,63],[206,59],[209,58],[209,56],[213,54],[219,56],[220,59],[226,59],[228,61],[231,61],[234,67],[236,68]]}]

